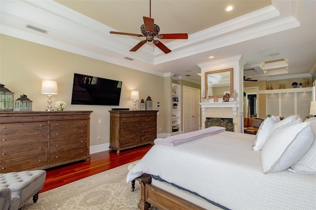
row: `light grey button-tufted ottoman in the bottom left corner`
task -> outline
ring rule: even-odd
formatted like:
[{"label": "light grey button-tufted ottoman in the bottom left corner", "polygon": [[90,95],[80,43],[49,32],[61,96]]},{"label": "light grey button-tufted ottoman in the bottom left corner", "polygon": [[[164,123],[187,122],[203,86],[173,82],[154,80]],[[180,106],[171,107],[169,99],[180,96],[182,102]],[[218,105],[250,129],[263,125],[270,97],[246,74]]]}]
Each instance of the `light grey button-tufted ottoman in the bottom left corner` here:
[{"label": "light grey button-tufted ottoman in the bottom left corner", "polygon": [[45,177],[46,171],[43,170],[0,174],[0,188],[8,187],[12,195],[20,197],[20,209],[32,196],[34,203],[37,202]]}]

